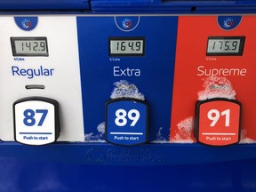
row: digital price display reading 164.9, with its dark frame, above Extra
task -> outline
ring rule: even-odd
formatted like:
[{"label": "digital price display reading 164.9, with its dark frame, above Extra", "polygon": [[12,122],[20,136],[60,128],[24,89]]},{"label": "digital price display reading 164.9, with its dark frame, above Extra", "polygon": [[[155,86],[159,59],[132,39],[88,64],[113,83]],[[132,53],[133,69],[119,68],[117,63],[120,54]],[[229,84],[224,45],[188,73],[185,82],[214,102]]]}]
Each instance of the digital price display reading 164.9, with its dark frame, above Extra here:
[{"label": "digital price display reading 164.9, with its dark frame, above Extra", "polygon": [[145,37],[109,37],[109,56],[144,56]]}]

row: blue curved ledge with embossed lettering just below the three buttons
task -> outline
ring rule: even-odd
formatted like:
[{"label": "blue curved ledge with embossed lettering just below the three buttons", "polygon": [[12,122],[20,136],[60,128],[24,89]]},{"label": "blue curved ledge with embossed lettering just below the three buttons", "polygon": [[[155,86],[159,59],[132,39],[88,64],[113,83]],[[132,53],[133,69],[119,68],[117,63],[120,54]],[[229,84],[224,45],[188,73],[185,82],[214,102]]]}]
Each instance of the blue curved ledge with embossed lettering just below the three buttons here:
[{"label": "blue curved ledge with embossed lettering just below the three buttons", "polygon": [[166,166],[251,159],[256,156],[255,147],[253,144],[225,148],[200,144],[144,144],[121,147],[106,143],[68,142],[37,147],[3,142],[0,145],[0,156],[68,164]]}]

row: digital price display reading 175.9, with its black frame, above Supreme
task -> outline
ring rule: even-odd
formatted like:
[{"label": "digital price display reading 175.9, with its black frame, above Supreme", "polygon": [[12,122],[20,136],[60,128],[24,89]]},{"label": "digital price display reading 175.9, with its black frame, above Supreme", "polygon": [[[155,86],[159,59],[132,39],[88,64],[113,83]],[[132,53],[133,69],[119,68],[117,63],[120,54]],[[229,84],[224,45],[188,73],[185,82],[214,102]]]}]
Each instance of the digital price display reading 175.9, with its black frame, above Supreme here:
[{"label": "digital price display reading 175.9, with its black frame, above Supreme", "polygon": [[242,56],[245,36],[209,36],[207,56]]}]

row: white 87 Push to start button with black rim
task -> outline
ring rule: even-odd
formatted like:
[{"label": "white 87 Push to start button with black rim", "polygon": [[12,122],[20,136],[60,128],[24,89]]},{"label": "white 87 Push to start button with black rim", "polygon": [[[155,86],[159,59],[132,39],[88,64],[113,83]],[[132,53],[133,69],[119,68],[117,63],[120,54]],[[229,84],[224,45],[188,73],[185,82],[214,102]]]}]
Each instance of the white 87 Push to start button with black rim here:
[{"label": "white 87 Push to start button with black rim", "polygon": [[13,104],[14,140],[27,145],[45,145],[60,136],[59,107],[56,100],[31,97]]}]

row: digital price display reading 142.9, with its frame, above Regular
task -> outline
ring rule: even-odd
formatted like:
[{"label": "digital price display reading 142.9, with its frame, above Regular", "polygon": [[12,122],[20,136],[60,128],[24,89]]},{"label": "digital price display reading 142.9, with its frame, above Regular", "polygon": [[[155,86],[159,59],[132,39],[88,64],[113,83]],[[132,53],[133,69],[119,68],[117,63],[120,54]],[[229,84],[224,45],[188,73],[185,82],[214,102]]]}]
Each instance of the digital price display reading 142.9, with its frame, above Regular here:
[{"label": "digital price display reading 142.9, with its frame, above Regular", "polygon": [[11,37],[11,43],[13,56],[49,56],[46,37]]}]

